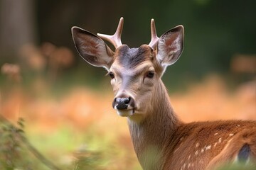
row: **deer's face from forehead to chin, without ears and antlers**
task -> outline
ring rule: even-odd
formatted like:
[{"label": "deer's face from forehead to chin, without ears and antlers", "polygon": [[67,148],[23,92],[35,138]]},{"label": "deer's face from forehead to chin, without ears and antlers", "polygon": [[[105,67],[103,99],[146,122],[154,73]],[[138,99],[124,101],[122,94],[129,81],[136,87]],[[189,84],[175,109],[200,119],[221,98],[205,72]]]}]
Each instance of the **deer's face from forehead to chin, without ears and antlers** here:
[{"label": "deer's face from forehead to chin, without ears and antlers", "polygon": [[112,106],[121,116],[147,113],[146,104],[154,91],[161,67],[156,62],[154,50],[149,45],[129,48],[122,45],[116,50],[116,60],[109,75],[114,90]]}]

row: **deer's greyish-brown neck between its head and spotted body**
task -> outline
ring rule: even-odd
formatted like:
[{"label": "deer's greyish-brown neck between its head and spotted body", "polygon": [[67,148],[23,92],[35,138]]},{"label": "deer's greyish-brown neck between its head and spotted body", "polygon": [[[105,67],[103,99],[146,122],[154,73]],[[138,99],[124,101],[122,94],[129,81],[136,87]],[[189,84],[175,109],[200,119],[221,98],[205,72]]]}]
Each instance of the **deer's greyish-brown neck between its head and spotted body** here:
[{"label": "deer's greyish-brown neck between its head and spotted body", "polygon": [[180,123],[162,81],[155,86],[153,96],[149,103],[152,109],[142,122],[128,118],[134,150],[143,169],[161,169],[159,166],[162,164],[160,160],[164,162],[164,149]]}]

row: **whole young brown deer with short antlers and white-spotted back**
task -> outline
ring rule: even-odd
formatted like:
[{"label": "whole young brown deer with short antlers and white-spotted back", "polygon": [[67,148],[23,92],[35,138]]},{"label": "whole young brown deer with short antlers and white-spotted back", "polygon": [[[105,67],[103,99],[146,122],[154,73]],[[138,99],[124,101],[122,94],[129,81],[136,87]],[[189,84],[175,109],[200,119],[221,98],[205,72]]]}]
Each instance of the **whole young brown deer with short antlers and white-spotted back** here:
[{"label": "whole young brown deer with short antlers and white-spotted back", "polygon": [[161,77],[181,56],[183,26],[159,38],[151,19],[149,44],[129,48],[121,41],[123,25],[120,18],[114,35],[95,35],[79,27],[72,28],[72,35],[82,59],[107,70],[114,91],[112,107],[127,118],[142,169],[218,169],[237,162],[255,167],[255,120],[183,123],[171,106]]}]

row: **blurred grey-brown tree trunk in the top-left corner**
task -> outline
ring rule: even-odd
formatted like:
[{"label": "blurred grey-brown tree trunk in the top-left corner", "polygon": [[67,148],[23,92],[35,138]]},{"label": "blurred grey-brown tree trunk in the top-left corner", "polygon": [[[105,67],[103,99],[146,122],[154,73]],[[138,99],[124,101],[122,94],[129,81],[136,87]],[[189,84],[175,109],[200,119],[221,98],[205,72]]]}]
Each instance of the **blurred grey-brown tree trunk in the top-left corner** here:
[{"label": "blurred grey-brown tree trunk in the top-left corner", "polygon": [[23,45],[36,42],[34,3],[33,0],[0,0],[0,59],[15,60]]}]

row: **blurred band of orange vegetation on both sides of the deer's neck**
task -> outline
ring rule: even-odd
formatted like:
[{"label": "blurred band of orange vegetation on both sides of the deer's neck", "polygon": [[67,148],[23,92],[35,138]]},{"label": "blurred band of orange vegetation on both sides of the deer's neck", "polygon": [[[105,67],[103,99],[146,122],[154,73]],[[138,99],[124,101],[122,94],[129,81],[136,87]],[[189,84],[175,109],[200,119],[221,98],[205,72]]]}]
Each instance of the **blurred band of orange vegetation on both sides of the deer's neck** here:
[{"label": "blurred band of orange vegetation on both sides of the deer's neck", "polygon": [[[92,124],[102,128],[114,126],[113,121],[125,121],[112,109],[112,91],[109,94],[74,88],[62,98],[26,96],[16,89],[1,96],[1,113],[11,120],[25,118],[48,128],[72,124],[85,129]],[[186,91],[170,94],[174,110],[185,122],[218,119],[256,120],[256,81],[241,84],[229,91],[224,81],[210,76],[191,85]],[[126,123],[124,123],[126,124]],[[124,125],[125,126],[125,125]],[[105,129],[104,128],[104,129]]]}]

